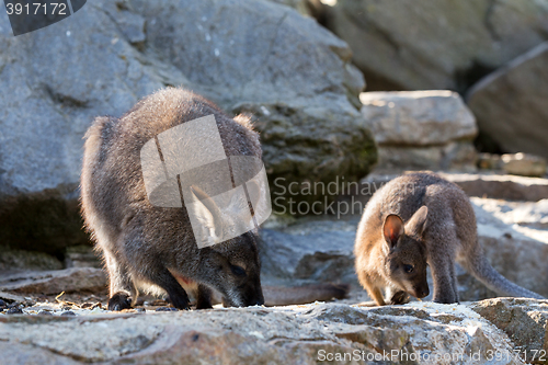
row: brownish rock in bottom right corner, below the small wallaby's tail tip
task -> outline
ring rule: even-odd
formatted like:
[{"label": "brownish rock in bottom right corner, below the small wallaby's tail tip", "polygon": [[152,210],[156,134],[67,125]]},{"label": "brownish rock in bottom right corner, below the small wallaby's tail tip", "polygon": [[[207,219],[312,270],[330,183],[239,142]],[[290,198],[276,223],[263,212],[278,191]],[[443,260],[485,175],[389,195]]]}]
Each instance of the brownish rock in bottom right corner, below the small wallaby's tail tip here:
[{"label": "brownish rock in bottom right corner, below the small wallaby's tail tip", "polygon": [[503,330],[521,347],[527,363],[548,363],[548,357],[544,356],[548,353],[546,300],[496,298],[478,301],[470,308]]}]

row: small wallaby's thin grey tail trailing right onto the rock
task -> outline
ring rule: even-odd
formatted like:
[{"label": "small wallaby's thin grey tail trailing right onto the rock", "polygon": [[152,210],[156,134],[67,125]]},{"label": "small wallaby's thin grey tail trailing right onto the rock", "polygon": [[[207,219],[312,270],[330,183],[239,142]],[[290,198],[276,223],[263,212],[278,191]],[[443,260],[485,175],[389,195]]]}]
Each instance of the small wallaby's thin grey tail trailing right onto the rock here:
[{"label": "small wallaby's thin grey tail trailing right onto the rock", "polygon": [[516,285],[499,274],[483,254],[475,255],[473,262],[464,263],[465,269],[488,288],[501,296],[546,299],[545,297]]}]

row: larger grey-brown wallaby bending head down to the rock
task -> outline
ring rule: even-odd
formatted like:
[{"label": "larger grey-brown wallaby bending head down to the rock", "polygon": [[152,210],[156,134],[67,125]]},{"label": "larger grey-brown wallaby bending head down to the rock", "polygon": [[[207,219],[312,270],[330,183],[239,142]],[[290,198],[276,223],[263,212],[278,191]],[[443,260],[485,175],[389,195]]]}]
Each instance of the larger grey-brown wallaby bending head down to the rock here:
[{"label": "larger grey-brown wallaby bending head down to the rock", "polygon": [[[189,206],[181,201],[180,207],[157,206],[147,195],[140,159],[145,144],[153,144],[155,138],[159,144],[162,132],[209,115],[215,117],[220,148],[227,157],[261,159],[259,135],[248,118],[231,118],[206,99],[174,88],[142,99],[121,118],[98,117],[88,130],[81,176],[82,214],[109,271],[110,310],[129,308],[129,298],[135,303],[139,288],[167,294],[180,309],[189,308],[187,292],[196,298],[198,309],[210,308],[212,289],[220,293],[226,306],[264,304],[256,230],[198,248]],[[187,141],[192,142],[196,141]],[[172,145],[176,146],[162,146],[163,152],[187,148],[180,140]],[[210,151],[214,147],[206,146]],[[165,156],[160,158],[163,162]],[[236,176],[228,176],[235,184]],[[181,192],[185,187],[179,178],[173,186],[176,191],[179,183]],[[204,237],[231,228],[216,221],[219,209],[203,191],[193,186],[187,191],[198,202],[197,210],[208,230],[204,235],[212,233]]]}]

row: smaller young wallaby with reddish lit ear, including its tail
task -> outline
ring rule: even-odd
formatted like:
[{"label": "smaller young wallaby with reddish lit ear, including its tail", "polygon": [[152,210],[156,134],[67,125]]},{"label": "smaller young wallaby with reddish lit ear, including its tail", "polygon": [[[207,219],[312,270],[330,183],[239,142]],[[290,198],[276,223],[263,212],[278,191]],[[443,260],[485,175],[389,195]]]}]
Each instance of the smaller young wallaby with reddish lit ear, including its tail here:
[{"label": "smaller young wallaby with reddish lit ear, including its tail", "polygon": [[458,303],[455,261],[500,295],[544,299],[489,264],[470,201],[434,173],[406,174],[378,190],[359,221],[354,253],[359,283],[379,306],[427,296],[426,265],[433,300]]}]

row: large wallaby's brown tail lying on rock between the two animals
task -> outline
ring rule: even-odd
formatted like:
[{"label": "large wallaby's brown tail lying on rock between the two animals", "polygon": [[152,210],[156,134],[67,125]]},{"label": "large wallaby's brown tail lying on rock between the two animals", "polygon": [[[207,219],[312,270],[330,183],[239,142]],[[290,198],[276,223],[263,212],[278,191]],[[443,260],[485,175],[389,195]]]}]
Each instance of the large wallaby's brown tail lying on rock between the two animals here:
[{"label": "large wallaby's brown tail lying on rock between the two animals", "polygon": [[289,306],[313,303],[316,300],[327,301],[333,298],[342,299],[350,290],[347,284],[316,284],[295,287],[263,286],[264,305]]}]

